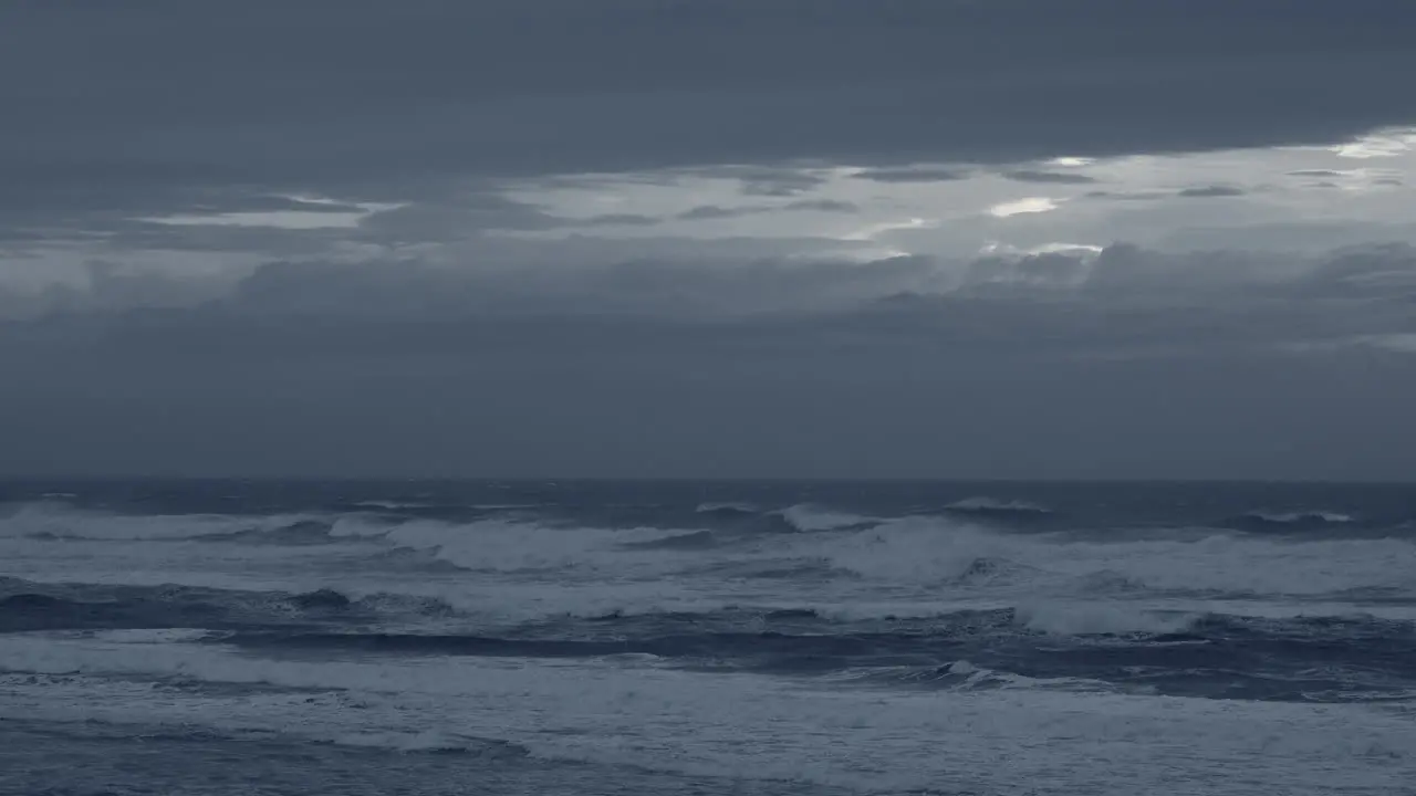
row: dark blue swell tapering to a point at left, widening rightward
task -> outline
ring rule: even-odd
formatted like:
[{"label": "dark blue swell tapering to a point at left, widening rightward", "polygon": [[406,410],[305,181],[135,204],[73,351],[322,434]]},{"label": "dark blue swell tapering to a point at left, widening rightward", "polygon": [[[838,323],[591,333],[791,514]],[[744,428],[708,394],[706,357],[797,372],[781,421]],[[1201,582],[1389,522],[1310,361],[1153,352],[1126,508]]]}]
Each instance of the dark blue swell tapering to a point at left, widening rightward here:
[{"label": "dark blue swell tapering to a point at left, widening rightward", "polygon": [[1058,635],[1025,612],[834,622],[814,612],[606,616],[479,633],[272,629],[208,643],[266,652],[603,659],[637,656],[691,670],[845,676],[881,686],[960,687],[956,661],[994,676],[1100,683],[1146,693],[1264,701],[1396,698],[1416,691],[1416,626],[1372,618],[1172,618],[1155,630]]}]

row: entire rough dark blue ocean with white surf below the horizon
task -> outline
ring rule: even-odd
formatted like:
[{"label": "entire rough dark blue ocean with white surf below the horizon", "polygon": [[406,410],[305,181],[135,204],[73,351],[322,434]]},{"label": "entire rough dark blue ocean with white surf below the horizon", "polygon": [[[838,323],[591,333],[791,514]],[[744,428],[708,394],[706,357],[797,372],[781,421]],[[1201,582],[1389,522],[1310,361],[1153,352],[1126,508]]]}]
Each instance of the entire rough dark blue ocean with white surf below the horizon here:
[{"label": "entire rough dark blue ocean with white surf below the horizon", "polygon": [[1416,486],[3,482],[0,793],[1416,793]]}]

